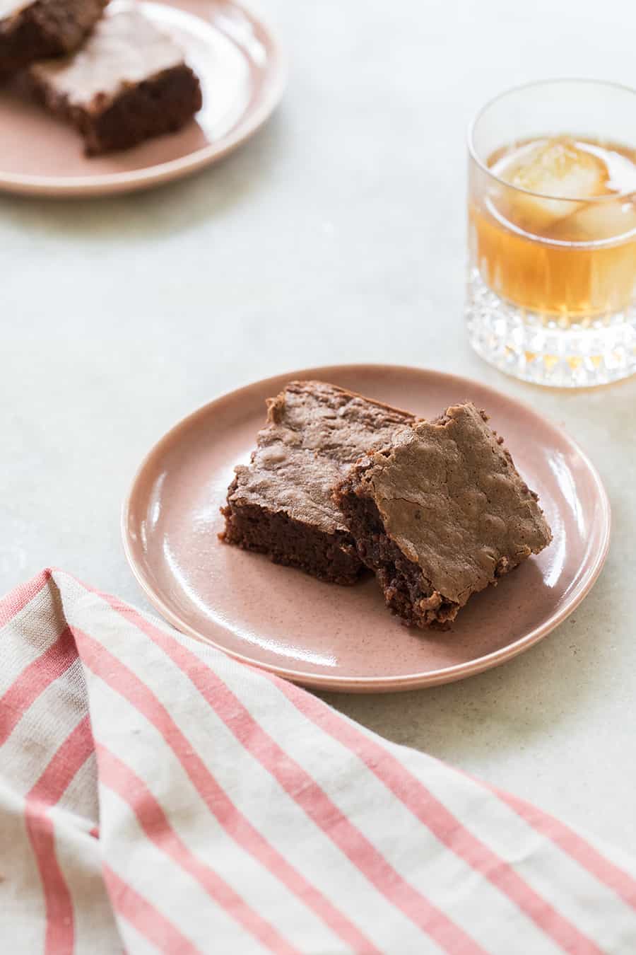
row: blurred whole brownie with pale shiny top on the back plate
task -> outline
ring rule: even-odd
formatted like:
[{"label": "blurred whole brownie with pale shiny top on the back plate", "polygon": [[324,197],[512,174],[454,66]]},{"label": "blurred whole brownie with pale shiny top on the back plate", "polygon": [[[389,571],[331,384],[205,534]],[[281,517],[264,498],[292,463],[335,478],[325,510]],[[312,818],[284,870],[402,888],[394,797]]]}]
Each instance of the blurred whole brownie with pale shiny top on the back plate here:
[{"label": "blurred whole brownie with pale shiny top on the back plate", "polygon": [[133,9],[107,14],[81,50],[37,63],[30,75],[89,156],[174,132],[201,108],[199,81],[179,47]]}]

